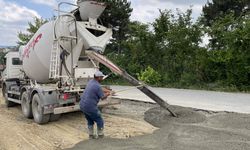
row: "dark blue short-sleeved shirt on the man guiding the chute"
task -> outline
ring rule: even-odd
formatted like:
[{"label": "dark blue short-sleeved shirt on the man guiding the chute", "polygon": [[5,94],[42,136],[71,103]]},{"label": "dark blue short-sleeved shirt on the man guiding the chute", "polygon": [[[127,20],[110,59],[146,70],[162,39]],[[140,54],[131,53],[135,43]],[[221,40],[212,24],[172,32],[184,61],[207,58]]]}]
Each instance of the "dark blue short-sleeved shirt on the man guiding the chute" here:
[{"label": "dark blue short-sleeved shirt on the man guiding the chute", "polygon": [[85,112],[96,112],[97,104],[104,97],[101,85],[95,79],[92,79],[87,84],[80,101],[80,108]]}]

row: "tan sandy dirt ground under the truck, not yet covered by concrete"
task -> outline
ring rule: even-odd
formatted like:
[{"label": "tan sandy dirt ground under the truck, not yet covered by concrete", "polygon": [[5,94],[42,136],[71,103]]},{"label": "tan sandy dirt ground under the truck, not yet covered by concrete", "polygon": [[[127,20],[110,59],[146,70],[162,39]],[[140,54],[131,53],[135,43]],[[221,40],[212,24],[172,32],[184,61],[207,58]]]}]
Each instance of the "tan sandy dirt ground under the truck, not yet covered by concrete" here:
[{"label": "tan sandy dirt ground under the truck, not yet covered by concrete", "polygon": [[[104,109],[105,135],[126,139],[151,134],[156,128],[143,120],[144,111],[151,107],[122,101],[116,107]],[[81,112],[64,114],[59,121],[38,125],[23,117],[20,106],[6,108],[3,97],[0,98],[0,150],[65,149],[87,139],[86,121]]]}]

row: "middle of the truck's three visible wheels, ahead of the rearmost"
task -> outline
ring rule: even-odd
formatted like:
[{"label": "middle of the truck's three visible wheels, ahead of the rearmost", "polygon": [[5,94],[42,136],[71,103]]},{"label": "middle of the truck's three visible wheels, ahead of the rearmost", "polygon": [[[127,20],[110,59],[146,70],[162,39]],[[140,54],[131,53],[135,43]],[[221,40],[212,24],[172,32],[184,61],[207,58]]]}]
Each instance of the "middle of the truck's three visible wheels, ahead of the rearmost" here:
[{"label": "middle of the truck's three visible wheels, ahead of the rearmost", "polygon": [[26,118],[31,119],[33,117],[33,115],[32,115],[32,106],[31,106],[31,103],[29,102],[28,93],[26,91],[23,92],[23,94],[22,94],[21,106],[22,106],[23,115]]}]

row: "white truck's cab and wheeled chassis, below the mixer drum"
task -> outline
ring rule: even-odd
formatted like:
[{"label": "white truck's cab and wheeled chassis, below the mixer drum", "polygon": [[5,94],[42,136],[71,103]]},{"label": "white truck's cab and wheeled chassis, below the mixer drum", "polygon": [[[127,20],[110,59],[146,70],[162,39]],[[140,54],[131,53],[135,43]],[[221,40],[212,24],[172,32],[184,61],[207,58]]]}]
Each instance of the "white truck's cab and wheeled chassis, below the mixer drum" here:
[{"label": "white truck's cab and wheeled chassis, below the mixer drum", "polygon": [[24,116],[34,118],[39,124],[58,120],[61,113],[72,109],[79,110],[78,91],[64,93],[57,90],[56,84],[37,84],[25,75],[20,58],[20,53],[17,51],[8,52],[5,56],[2,94],[7,107],[21,104]]}]

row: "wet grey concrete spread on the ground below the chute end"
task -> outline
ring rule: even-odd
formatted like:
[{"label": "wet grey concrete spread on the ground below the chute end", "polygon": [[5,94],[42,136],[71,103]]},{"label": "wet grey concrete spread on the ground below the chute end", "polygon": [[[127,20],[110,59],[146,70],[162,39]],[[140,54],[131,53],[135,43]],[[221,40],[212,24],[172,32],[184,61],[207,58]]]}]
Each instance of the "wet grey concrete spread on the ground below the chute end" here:
[{"label": "wet grey concrete spread on the ground below the chute end", "polygon": [[146,121],[160,127],[153,134],[118,140],[106,137],[78,143],[73,150],[249,150],[250,115],[174,106],[178,118],[155,107]]}]

